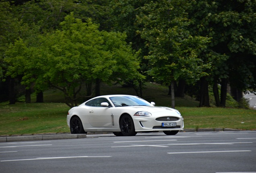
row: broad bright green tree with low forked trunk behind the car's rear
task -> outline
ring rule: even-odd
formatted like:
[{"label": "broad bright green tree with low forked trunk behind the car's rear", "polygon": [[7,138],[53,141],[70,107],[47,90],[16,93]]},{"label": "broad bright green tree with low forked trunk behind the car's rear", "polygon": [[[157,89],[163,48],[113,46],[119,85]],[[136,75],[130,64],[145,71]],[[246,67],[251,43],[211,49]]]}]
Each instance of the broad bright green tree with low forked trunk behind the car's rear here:
[{"label": "broad bright green tree with low forked trunk behind the car's rear", "polygon": [[73,14],[66,16],[61,26],[61,30],[40,36],[37,47],[28,47],[23,40],[10,46],[6,58],[11,64],[9,72],[23,74],[26,86],[35,82],[36,89],[49,84],[61,90],[70,107],[77,105],[84,83],[143,78],[137,71],[137,54],[126,44],[125,34],[99,31],[91,20],[85,23]]}]

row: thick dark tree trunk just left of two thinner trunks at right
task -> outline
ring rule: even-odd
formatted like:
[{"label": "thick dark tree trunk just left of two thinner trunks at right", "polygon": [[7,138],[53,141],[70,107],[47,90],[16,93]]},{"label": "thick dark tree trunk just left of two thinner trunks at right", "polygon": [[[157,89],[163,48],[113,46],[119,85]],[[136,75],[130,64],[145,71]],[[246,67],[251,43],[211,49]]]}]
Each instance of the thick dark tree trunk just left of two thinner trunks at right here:
[{"label": "thick dark tree trunk just left of two thinner trunks at right", "polygon": [[199,107],[210,107],[208,81],[206,77],[200,79]]}]

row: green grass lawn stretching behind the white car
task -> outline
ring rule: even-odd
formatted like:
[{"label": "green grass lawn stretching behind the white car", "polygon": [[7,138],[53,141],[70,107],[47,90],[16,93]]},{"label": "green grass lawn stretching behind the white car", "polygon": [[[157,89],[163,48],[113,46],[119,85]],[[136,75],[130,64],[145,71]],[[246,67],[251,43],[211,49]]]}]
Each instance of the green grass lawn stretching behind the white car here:
[{"label": "green grass lawn stretching behind the white car", "polygon": [[[109,87],[102,84],[101,89],[101,95],[136,95],[133,89],[122,88],[118,85]],[[148,83],[143,91],[143,98],[147,101],[154,101],[157,106],[170,107],[171,97],[167,96],[167,92],[167,87]],[[0,135],[70,132],[66,123],[66,115],[70,108],[61,103],[61,96],[60,92],[50,90],[44,93],[44,101],[47,103],[17,103],[15,105],[1,103]],[[35,102],[35,96],[32,97],[32,102]],[[175,98],[175,105],[184,117],[185,129],[230,128],[256,130],[256,110],[199,108],[197,107],[198,102],[191,98]]]}]

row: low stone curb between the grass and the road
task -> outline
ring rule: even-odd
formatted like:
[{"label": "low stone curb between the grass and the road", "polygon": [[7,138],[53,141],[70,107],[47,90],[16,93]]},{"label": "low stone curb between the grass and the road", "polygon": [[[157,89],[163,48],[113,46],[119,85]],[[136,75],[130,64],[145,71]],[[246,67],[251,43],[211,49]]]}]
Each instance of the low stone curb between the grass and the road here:
[{"label": "low stone curb between the grass and the road", "polygon": [[[212,132],[212,131],[240,131],[237,129],[227,128],[209,128],[209,129],[184,129],[181,132]],[[101,132],[88,132],[87,135],[96,134],[112,134]],[[18,141],[45,141],[45,140],[57,140],[57,139],[83,139],[86,138],[86,134],[70,134],[70,133],[54,133],[54,134],[38,134],[38,135],[21,135],[21,136],[4,136],[0,137],[1,142],[18,142]]]}]

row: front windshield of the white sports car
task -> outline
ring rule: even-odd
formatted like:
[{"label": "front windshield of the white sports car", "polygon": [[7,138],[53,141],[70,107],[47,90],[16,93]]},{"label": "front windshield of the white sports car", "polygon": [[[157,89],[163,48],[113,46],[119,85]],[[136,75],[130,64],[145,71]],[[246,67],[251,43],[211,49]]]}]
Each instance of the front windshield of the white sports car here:
[{"label": "front windshield of the white sports car", "polygon": [[116,96],[109,97],[115,107],[122,106],[152,106],[149,102],[139,98],[132,96]]}]

